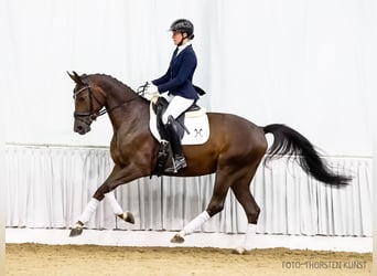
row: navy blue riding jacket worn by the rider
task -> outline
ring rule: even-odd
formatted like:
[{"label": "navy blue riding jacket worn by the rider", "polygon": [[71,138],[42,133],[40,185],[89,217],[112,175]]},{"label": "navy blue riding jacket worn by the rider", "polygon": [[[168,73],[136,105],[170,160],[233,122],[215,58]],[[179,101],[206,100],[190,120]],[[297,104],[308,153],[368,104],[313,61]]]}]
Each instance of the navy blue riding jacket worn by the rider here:
[{"label": "navy blue riding jacket worn by the rider", "polygon": [[175,51],[166,73],[152,83],[158,87],[159,93],[169,92],[172,95],[197,99],[198,95],[192,83],[197,64],[193,46],[186,46],[176,56],[174,54]]}]

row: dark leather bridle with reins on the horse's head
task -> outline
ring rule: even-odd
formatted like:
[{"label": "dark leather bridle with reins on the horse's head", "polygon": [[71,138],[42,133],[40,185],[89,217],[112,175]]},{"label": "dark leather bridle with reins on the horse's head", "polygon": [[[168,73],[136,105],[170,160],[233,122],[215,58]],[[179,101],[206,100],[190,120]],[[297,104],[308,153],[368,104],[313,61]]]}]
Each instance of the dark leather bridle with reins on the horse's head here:
[{"label": "dark leather bridle with reins on the horse's head", "polygon": [[[143,87],[143,88],[146,88],[146,87]],[[75,118],[75,119],[78,119],[78,120],[80,120],[80,121],[83,121],[84,124],[86,124],[86,125],[88,125],[88,126],[89,126],[94,120],[96,120],[97,117],[103,116],[103,115],[106,114],[106,113],[109,114],[109,113],[111,113],[112,110],[115,110],[115,109],[117,109],[117,108],[123,106],[125,104],[130,103],[130,102],[132,102],[133,99],[137,99],[137,98],[140,96],[140,94],[143,93],[143,91],[140,92],[140,91],[138,89],[138,92],[134,94],[134,97],[131,97],[130,99],[128,99],[128,100],[121,103],[120,105],[114,106],[114,107],[111,107],[111,108],[107,108],[107,107],[105,106],[105,104],[104,104],[104,103],[100,103],[100,100],[99,100],[99,99],[96,97],[96,95],[93,93],[90,84],[86,84],[86,86],[84,86],[84,87],[80,88],[79,91],[75,92],[75,93],[74,93],[74,98],[76,98],[80,93],[83,93],[83,92],[85,92],[85,91],[88,91],[88,93],[89,93],[89,110],[88,110],[87,113],[77,113],[77,112],[74,112],[74,118]],[[103,107],[101,107],[99,110],[97,110],[97,112],[94,109],[94,106],[93,106],[94,100],[95,100],[97,104],[99,104],[99,106],[103,106]],[[86,118],[88,118],[88,120],[87,120]]]}]

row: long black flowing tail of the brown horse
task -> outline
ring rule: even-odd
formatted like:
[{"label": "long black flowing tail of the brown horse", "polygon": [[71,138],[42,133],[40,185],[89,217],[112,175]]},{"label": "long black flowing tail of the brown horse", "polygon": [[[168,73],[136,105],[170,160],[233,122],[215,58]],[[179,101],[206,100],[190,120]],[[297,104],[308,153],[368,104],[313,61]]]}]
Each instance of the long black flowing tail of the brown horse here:
[{"label": "long black flowing tail of the brown horse", "polygon": [[352,180],[332,172],[313,145],[294,129],[280,124],[268,125],[262,129],[265,134],[273,135],[273,144],[267,152],[265,163],[272,158],[288,156],[293,157],[308,174],[321,182],[345,185]]}]

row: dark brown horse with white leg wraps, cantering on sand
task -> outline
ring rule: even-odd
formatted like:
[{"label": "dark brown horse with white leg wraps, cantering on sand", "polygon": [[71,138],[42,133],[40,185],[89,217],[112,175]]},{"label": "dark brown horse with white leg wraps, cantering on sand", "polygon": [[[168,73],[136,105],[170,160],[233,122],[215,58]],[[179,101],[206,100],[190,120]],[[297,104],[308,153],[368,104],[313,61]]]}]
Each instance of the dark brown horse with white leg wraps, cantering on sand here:
[{"label": "dark brown horse with white leg wraps, cantering on sand", "polygon": [[[98,116],[108,114],[114,130],[110,156],[115,163],[69,235],[82,234],[85,223],[105,197],[116,215],[126,222],[134,223],[132,213],[123,212],[116,201],[114,190],[132,180],[150,177],[157,166],[160,142],[149,128],[150,100],[109,75],[78,75],[76,72],[68,75],[75,82],[74,131],[79,135],[87,134]],[[240,253],[252,248],[249,241],[256,232],[260,209],[249,187],[263,158],[263,164],[283,156],[294,158],[305,173],[325,184],[344,187],[352,180],[348,176],[335,173],[314,145],[286,125],[271,124],[262,127],[237,115],[222,113],[207,113],[207,117],[211,129],[208,140],[202,145],[184,145],[183,153],[187,167],[175,174],[164,173],[171,177],[215,173],[213,194],[206,210],[176,233],[171,240],[173,243],[183,243],[185,235],[193,233],[219,213],[230,189],[248,221]],[[267,134],[273,136],[270,148],[266,139]]]}]

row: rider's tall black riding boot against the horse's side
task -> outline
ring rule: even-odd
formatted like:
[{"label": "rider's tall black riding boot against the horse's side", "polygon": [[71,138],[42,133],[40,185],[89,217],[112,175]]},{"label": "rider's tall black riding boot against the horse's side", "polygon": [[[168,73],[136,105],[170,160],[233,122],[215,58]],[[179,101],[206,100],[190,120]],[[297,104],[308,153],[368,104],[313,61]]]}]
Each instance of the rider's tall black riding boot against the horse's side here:
[{"label": "rider's tall black riding boot against the horse's side", "polygon": [[173,151],[173,167],[165,169],[165,172],[176,173],[180,169],[187,167],[186,159],[182,152],[181,138],[175,128],[175,120],[172,116],[169,117],[165,129],[169,136],[170,145]]}]

